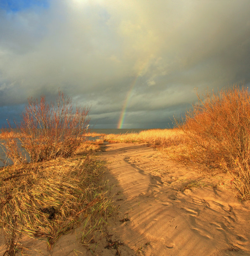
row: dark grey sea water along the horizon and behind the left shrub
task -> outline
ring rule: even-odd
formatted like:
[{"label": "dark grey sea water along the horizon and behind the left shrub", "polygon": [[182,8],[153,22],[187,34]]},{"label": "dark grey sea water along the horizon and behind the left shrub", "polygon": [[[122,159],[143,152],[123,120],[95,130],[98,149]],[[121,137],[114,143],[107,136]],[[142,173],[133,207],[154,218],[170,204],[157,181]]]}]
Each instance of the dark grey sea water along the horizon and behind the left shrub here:
[{"label": "dark grey sea water along the horizon and behind the left shrub", "polygon": [[[95,133],[100,133],[100,134],[102,134],[102,133],[123,134],[123,133],[139,133],[140,131],[143,131],[143,130],[147,130],[147,129],[89,129],[89,132],[95,132]],[[96,140],[98,138],[99,138],[99,136],[87,137],[88,140]],[[0,140],[0,144],[1,144],[1,140]],[[2,161],[1,159],[4,161],[7,161],[6,163],[8,165],[12,164],[12,161],[10,159],[7,159],[5,153],[0,145],[0,167],[4,166],[4,161]]]}]

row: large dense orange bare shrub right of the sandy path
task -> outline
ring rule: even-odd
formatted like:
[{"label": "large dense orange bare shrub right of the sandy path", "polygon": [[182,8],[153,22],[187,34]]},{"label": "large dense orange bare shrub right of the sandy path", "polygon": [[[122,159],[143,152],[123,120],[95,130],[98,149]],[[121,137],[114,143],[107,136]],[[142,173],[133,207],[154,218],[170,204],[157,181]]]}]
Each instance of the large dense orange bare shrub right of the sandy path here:
[{"label": "large dense orange bare shrub right of the sandy path", "polygon": [[250,94],[234,85],[208,92],[186,112],[181,127],[189,138],[186,158],[228,172],[240,198],[250,198]]}]

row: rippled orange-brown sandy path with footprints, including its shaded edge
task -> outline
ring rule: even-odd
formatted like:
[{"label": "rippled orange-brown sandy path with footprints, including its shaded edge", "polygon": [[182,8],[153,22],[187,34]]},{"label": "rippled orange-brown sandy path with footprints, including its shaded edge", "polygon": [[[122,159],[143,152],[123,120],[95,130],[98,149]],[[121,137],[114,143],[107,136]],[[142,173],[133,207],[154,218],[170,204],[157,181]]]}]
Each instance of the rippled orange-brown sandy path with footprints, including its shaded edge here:
[{"label": "rippled orange-brown sandy path with footprints, including its shaded edge", "polygon": [[[173,163],[143,144],[106,144],[97,155],[108,162],[110,194],[119,207],[105,237],[82,245],[79,227],[52,252],[45,242],[24,240],[26,254],[250,255],[250,201],[233,197],[230,177]],[[0,255],[4,248],[1,236]]]}]

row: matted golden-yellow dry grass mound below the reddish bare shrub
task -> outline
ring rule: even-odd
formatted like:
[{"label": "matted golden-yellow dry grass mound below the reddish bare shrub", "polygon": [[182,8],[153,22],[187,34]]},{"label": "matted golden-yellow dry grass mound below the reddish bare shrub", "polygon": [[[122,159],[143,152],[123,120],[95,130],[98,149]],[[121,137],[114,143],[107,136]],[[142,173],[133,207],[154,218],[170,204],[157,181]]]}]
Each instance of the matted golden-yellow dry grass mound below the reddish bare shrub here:
[{"label": "matted golden-yellow dry grass mound below the reddish bare shrub", "polygon": [[13,237],[15,217],[16,232],[46,239],[48,249],[82,221],[88,237],[114,211],[104,171],[90,155],[0,169],[0,227]]}]

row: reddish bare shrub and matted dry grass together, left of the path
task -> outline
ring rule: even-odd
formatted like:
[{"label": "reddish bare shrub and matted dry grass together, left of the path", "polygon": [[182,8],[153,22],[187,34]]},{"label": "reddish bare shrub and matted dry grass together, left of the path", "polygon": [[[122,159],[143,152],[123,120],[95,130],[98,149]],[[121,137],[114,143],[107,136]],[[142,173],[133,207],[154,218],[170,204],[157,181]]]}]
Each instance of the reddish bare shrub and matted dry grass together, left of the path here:
[{"label": "reddish bare shrub and matted dry grass together, left of the path", "polygon": [[[87,142],[89,108],[73,107],[59,91],[56,103],[28,99],[15,128],[2,129],[1,146],[13,165],[0,168],[0,230],[4,255],[25,252],[23,239],[46,240],[48,250],[80,227],[82,244],[102,234],[115,211],[104,178],[105,162],[92,152],[103,141]],[[24,155],[23,149],[28,154]]]}]

